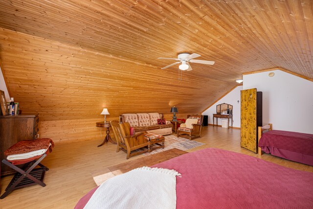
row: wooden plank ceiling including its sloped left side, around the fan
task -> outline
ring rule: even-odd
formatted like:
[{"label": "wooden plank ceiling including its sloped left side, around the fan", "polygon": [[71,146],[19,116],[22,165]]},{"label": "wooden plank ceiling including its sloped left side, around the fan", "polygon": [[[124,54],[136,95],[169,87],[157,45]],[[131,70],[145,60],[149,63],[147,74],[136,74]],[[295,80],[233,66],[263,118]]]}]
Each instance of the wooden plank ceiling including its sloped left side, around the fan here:
[{"label": "wooden plank ceiling including its sloped left side, around the fan", "polygon": [[[313,78],[312,0],[2,0],[0,27],[11,94],[45,121],[199,113],[254,70]],[[180,81],[157,57],[181,52],[216,63]]]}]

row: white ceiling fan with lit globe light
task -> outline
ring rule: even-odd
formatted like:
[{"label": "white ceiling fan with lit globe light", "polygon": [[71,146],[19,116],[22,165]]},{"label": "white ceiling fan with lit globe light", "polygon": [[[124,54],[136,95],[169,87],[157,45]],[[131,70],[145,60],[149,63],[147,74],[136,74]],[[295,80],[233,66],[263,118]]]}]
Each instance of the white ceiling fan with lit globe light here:
[{"label": "white ceiling fan with lit globe light", "polygon": [[171,65],[168,65],[168,66],[165,66],[164,68],[161,68],[162,70],[163,69],[166,69],[166,68],[169,68],[173,65],[176,65],[176,64],[179,64],[179,70],[187,70],[187,71],[190,71],[192,70],[190,64],[188,62],[191,62],[191,63],[201,63],[201,64],[206,64],[206,65],[214,65],[214,61],[207,61],[207,60],[193,60],[194,58],[197,58],[197,57],[200,57],[201,55],[200,54],[196,54],[196,53],[193,53],[193,54],[188,54],[188,53],[182,53],[182,54],[179,54],[178,55],[178,58],[166,58],[166,57],[159,57],[157,59],[167,59],[167,60],[177,60],[179,62],[176,62],[176,63],[173,63]]}]

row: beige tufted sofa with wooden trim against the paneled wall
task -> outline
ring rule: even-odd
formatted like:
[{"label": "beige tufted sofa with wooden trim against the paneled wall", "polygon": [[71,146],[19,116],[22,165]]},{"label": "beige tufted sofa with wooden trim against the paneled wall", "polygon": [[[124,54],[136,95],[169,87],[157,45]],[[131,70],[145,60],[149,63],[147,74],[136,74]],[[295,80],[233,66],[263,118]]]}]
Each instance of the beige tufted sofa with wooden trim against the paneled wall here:
[{"label": "beige tufted sofa with wooden trim against the paneled wall", "polygon": [[119,116],[119,122],[128,122],[134,128],[135,133],[148,131],[154,134],[169,135],[172,134],[173,124],[166,121],[164,125],[158,125],[157,119],[163,119],[163,114],[158,113],[137,113],[123,114]]}]

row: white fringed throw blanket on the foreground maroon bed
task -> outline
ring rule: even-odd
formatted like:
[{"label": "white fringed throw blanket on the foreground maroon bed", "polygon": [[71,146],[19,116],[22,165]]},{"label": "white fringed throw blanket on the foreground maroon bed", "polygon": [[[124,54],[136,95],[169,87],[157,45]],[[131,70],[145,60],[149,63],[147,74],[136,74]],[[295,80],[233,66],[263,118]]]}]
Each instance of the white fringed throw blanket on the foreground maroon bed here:
[{"label": "white fringed throw blanket on the foreground maroon bed", "polygon": [[175,170],[140,167],[99,186],[84,209],[175,209]]}]

